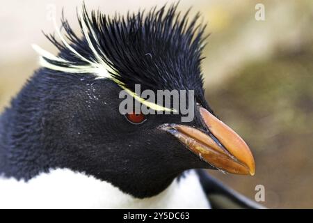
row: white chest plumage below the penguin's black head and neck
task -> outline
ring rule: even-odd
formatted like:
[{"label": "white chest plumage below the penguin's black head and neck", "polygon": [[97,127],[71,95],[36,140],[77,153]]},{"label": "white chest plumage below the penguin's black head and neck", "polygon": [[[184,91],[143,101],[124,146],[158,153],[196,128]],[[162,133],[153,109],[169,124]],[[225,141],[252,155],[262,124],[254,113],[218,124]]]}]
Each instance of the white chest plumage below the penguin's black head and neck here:
[{"label": "white chest plumage below the penguin's black head and neck", "polygon": [[69,169],[29,180],[0,178],[0,208],[210,208],[195,171],[157,196],[136,199],[117,187]]}]

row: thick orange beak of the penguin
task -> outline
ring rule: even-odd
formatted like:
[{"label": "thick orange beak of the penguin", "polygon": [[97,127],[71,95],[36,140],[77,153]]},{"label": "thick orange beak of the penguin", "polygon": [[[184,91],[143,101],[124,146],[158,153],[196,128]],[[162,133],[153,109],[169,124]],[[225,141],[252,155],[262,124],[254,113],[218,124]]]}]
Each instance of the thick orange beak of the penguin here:
[{"label": "thick orange beak of the penguin", "polygon": [[232,174],[255,174],[255,160],[250,148],[234,130],[200,107],[202,121],[209,132],[187,125],[164,125],[190,151],[217,169]]}]

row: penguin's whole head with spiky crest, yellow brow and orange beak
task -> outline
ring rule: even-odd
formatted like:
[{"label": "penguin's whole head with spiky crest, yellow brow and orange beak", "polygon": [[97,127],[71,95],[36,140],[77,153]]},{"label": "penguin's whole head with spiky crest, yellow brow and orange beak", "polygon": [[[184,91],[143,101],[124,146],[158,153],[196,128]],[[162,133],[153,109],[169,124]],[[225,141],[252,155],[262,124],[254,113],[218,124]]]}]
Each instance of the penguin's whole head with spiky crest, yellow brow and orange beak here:
[{"label": "penguin's whole head with spiky crest, yellow brow and orange beak", "polygon": [[[197,26],[198,15],[187,17],[177,6],[113,18],[83,7],[82,37],[63,20],[67,38],[58,30],[58,37],[47,36],[58,56],[34,46],[43,67],[31,84],[44,101],[38,157],[45,169],[81,171],[135,197],[161,192],[186,169],[254,174],[248,146],[204,98],[204,26]],[[183,121],[186,114],[172,104],[148,101],[145,90],[193,91],[193,118]],[[135,105],[120,112],[121,91],[156,114],[138,113]]]}]

